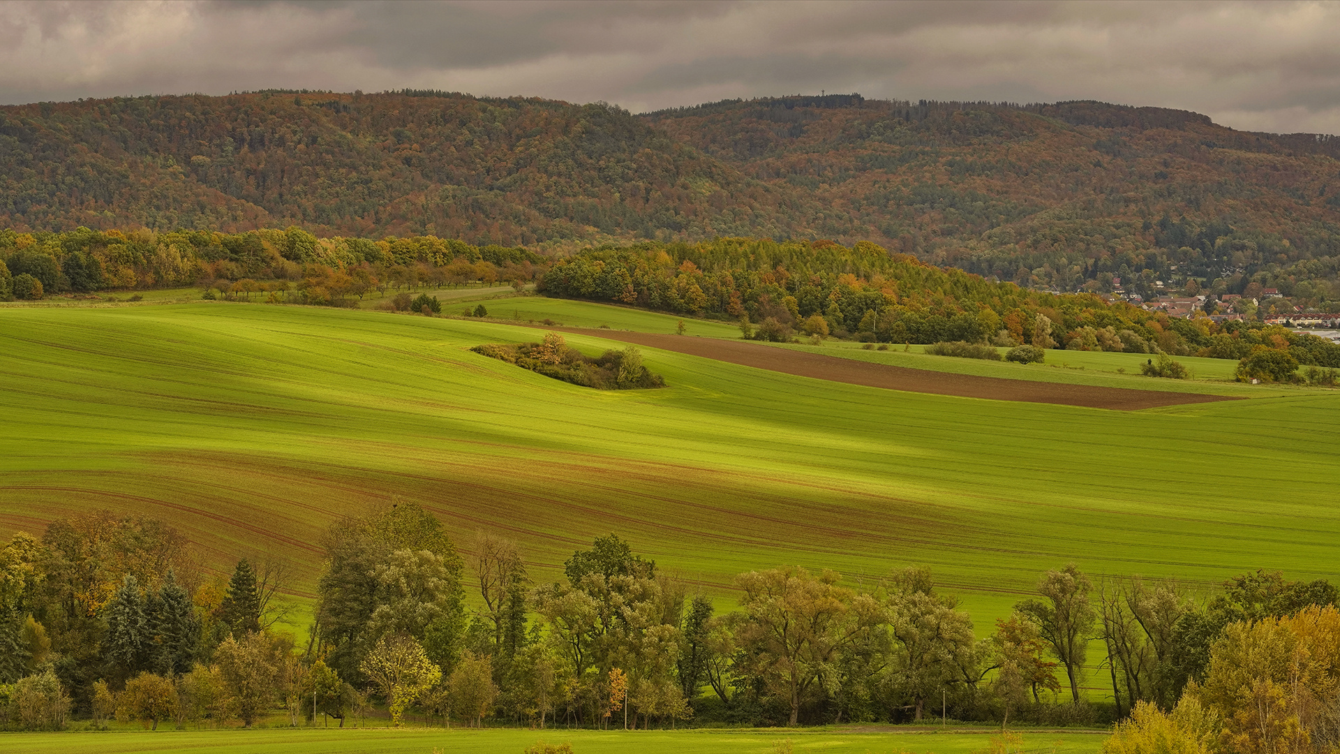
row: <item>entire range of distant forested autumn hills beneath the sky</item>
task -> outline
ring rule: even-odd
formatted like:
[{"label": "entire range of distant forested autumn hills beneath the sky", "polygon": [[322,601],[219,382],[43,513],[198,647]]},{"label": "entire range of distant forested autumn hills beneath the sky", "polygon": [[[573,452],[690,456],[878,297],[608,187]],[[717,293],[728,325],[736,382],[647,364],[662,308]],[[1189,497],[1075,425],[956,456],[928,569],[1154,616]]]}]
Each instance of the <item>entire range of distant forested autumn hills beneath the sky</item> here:
[{"label": "entire range of distant forested autumn hills beneath the sky", "polygon": [[[618,107],[255,93],[0,107],[0,227],[476,244],[871,240],[1032,287],[1340,298],[1340,140],[859,95]],[[1297,287],[1297,290],[1296,290]]]}]

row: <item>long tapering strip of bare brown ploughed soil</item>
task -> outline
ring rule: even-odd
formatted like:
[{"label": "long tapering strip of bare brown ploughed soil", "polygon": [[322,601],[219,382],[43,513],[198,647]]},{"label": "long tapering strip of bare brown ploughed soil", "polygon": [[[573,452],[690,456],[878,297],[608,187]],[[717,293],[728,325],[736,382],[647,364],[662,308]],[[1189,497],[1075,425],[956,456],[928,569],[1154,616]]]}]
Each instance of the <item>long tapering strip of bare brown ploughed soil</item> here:
[{"label": "long tapering strip of bare brown ploughed soil", "polygon": [[1004,377],[980,377],[976,374],[951,374],[949,372],[890,366],[887,364],[871,364],[868,361],[854,361],[835,356],[779,349],[744,341],[721,341],[661,333],[630,333],[626,330],[592,330],[586,327],[547,329],[596,335],[611,341],[701,356],[704,358],[714,358],[717,361],[768,369],[770,372],[783,372],[799,377],[813,377],[816,380],[831,380],[833,382],[848,382],[851,385],[886,388],[909,393],[1079,405],[1112,411],[1139,411],[1166,405],[1242,400],[1238,396],[1132,390],[1130,388],[1100,388],[1093,385],[1006,380]]}]

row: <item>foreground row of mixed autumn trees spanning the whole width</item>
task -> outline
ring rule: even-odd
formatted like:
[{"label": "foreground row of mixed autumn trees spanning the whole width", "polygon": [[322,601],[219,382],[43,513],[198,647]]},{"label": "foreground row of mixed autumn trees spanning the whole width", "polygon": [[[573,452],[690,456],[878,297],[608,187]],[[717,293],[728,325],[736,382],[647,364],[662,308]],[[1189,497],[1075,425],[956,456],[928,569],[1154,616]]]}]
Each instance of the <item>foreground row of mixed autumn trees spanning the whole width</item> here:
[{"label": "foreground row of mixed autumn trees spanning the whole width", "polygon": [[[749,572],[738,609],[717,613],[612,534],[551,584],[490,534],[462,558],[403,500],[338,522],[326,547],[315,625],[295,647],[276,629],[272,566],[243,559],[209,578],[173,529],[107,513],[52,522],[42,541],[16,534],[0,551],[0,722],[343,724],[385,710],[397,724],[646,729],[1134,711],[1127,735],[1211,731],[1205,751],[1340,743],[1340,593],[1325,581],[1257,572],[1198,594],[1072,563],[980,636],[917,568],[859,586],[828,570]],[[1081,691],[1085,669],[1112,702]]]}]

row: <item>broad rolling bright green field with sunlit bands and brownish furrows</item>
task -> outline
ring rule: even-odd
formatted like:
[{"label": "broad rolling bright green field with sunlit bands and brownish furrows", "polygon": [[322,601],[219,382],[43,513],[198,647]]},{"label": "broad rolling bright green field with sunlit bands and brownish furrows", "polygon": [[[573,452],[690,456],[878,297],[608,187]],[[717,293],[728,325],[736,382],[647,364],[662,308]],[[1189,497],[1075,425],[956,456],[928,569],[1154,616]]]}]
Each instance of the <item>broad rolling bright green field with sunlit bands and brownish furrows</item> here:
[{"label": "broad rolling bright green field with sunlit bands and brownish furrows", "polygon": [[[578,326],[669,331],[677,319],[531,297],[511,306]],[[709,325],[686,323],[690,334]],[[799,563],[868,582],[927,565],[963,596],[981,635],[1067,561],[1197,584],[1256,568],[1327,578],[1340,566],[1332,392],[1111,412],[880,390],[650,349],[646,364],[669,388],[595,392],[468,350],[537,334],[222,302],[0,310],[0,535],[80,510],[151,515],[214,566],[288,558],[292,597],[306,604],[322,531],[402,495],[460,542],[478,527],[519,539],[537,580],[614,531],[722,606],[742,570]],[[847,346],[820,347],[1017,368]]]}]

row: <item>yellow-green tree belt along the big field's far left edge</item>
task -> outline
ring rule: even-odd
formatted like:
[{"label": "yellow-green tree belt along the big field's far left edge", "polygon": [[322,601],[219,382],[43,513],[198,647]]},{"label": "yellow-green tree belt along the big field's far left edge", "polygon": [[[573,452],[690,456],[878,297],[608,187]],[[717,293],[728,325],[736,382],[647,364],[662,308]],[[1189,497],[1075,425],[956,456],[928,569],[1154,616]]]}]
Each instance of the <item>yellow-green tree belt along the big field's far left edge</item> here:
[{"label": "yellow-green tree belt along the big field's far left edge", "polygon": [[229,298],[251,299],[268,291],[291,294],[284,301],[339,305],[387,287],[474,280],[520,284],[543,266],[544,258],[524,248],[476,247],[434,236],[318,239],[296,227],[244,233],[0,231],[4,299],[200,284]]}]

